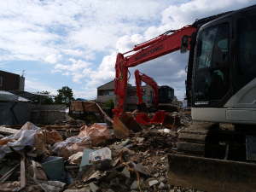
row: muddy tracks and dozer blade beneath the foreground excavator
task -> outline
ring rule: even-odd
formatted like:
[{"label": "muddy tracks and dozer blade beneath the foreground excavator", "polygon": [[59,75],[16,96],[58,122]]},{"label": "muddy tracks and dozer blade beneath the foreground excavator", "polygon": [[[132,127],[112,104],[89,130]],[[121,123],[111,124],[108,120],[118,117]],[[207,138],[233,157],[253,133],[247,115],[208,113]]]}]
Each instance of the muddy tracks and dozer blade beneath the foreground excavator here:
[{"label": "muddy tracks and dozer blade beneath the foreground excavator", "polygon": [[170,184],[209,192],[256,189],[246,135],[232,125],[195,122],[180,131],[177,151],[168,155]]}]

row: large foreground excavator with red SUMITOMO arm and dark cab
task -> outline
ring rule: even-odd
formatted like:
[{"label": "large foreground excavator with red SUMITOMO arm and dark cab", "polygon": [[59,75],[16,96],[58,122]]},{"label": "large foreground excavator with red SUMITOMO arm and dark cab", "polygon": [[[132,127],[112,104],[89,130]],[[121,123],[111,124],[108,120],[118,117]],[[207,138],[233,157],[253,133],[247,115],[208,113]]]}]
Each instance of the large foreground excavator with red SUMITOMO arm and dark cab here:
[{"label": "large foreground excavator with red SUMITOMO arm and dark cab", "polygon": [[135,45],[133,55],[124,56],[131,51],[119,53],[114,134],[125,138],[142,130],[131,113],[125,113],[128,68],[176,50],[189,50],[185,84],[195,123],[179,131],[177,154],[168,154],[167,182],[210,192],[255,191],[255,36],[254,5],[165,32]]}]

